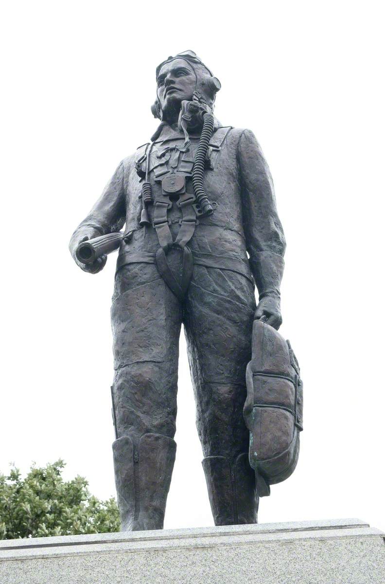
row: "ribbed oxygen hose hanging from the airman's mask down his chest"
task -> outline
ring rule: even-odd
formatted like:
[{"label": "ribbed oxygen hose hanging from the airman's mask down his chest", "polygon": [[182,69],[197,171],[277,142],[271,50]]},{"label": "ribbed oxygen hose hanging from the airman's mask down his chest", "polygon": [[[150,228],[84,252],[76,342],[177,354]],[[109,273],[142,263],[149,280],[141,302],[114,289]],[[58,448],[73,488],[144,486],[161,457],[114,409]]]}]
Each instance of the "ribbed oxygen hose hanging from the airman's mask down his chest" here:
[{"label": "ribbed oxygen hose hanging from the airman's mask down his chest", "polygon": [[199,145],[194,159],[194,169],[192,170],[192,187],[194,189],[197,203],[201,207],[202,214],[211,215],[213,207],[208,196],[203,188],[203,175],[205,172],[206,155],[209,142],[214,130],[214,116],[212,113],[205,113],[203,117],[203,128],[201,137],[199,138]]}]

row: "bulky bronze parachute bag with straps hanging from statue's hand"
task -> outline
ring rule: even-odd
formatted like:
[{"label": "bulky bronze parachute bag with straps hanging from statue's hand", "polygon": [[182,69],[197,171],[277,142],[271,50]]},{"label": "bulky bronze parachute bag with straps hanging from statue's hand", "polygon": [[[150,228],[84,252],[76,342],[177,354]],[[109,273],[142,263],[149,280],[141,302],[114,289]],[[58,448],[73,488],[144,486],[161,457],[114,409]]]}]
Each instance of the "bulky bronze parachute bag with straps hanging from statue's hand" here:
[{"label": "bulky bronze parachute bag with straps hanging from statue's hand", "polygon": [[244,419],[250,430],[249,461],[258,494],[284,481],[296,467],[303,429],[303,384],[289,341],[263,321],[254,321],[246,369]]}]

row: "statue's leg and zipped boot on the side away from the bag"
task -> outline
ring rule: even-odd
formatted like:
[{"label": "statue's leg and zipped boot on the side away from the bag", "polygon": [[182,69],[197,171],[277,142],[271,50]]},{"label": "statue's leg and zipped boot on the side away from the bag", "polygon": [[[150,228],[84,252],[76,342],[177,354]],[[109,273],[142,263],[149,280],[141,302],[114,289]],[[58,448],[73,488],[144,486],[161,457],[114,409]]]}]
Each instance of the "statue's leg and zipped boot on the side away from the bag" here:
[{"label": "statue's leg and zipped boot on the side away from the bag", "polygon": [[153,265],[118,272],[113,444],[122,530],[162,529],[176,443],[181,309]]}]

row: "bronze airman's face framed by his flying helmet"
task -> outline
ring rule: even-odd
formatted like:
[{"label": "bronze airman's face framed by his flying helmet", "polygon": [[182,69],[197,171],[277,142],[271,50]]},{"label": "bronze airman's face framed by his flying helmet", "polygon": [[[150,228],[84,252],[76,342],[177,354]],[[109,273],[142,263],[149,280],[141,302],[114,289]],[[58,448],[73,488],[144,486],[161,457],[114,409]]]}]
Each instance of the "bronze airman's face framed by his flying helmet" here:
[{"label": "bronze airman's face framed by his flying helmet", "polygon": [[156,81],[157,99],[163,113],[179,112],[182,100],[192,100],[196,79],[194,70],[184,59],[174,59],[163,65]]}]

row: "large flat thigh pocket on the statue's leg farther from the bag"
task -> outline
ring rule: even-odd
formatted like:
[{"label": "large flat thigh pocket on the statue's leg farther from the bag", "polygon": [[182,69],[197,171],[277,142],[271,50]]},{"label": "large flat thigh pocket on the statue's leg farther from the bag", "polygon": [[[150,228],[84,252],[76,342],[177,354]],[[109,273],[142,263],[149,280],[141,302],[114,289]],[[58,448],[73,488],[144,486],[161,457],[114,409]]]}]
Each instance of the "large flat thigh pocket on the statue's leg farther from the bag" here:
[{"label": "large flat thigh pocket on the statue's leg farther from the bag", "polygon": [[114,368],[163,361],[166,351],[165,284],[155,280],[127,290],[111,307]]}]

